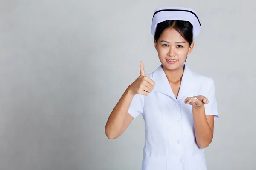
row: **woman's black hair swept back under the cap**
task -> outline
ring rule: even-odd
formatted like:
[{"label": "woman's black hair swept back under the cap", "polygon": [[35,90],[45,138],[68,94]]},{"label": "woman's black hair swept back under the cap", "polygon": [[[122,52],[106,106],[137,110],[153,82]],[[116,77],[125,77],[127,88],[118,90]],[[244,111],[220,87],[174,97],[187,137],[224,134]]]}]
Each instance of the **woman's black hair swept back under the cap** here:
[{"label": "woman's black hair swept back under the cap", "polygon": [[[189,46],[193,42],[193,26],[189,21],[180,20],[166,20],[157,24],[154,41],[157,43],[160,35],[168,28],[173,28],[180,33],[180,35],[189,42]],[[185,60],[186,62],[186,60]]]}]

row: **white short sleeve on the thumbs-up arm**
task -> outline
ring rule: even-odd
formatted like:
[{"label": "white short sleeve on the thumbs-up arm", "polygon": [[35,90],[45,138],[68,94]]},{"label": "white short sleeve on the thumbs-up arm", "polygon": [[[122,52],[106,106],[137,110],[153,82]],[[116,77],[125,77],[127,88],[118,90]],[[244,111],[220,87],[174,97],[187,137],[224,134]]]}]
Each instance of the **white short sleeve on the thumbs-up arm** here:
[{"label": "white short sleeve on the thumbs-up arm", "polygon": [[142,94],[135,94],[134,98],[131,101],[131,105],[128,109],[128,113],[133,117],[136,118],[140,114],[143,114],[144,108],[144,95]]}]

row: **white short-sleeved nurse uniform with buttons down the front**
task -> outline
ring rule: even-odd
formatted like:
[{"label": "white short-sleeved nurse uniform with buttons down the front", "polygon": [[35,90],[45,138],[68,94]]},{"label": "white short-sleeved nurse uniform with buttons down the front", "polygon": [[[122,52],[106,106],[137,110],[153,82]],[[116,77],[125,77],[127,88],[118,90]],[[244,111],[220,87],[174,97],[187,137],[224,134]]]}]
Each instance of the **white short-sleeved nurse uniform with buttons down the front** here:
[{"label": "white short-sleeved nurse uniform with buttons down the front", "polygon": [[187,65],[175,98],[160,65],[147,74],[156,85],[148,96],[134,96],[128,113],[134,118],[142,114],[145,121],[145,145],[141,170],[207,170],[204,149],[195,141],[192,106],[186,97],[203,95],[206,115],[218,118],[215,87],[211,77],[192,72]]}]

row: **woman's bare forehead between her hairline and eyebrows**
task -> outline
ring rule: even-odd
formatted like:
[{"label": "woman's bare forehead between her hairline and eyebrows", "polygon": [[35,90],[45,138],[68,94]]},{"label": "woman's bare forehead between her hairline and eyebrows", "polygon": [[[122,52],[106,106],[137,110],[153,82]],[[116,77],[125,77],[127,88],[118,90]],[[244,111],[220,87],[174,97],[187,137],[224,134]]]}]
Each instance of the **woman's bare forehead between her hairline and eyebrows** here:
[{"label": "woman's bare forehead between her hairline and eyebrows", "polygon": [[176,31],[174,28],[167,28],[162,32],[162,34],[159,37],[159,40],[169,40],[169,41],[185,41],[185,38],[182,37],[182,35]]}]

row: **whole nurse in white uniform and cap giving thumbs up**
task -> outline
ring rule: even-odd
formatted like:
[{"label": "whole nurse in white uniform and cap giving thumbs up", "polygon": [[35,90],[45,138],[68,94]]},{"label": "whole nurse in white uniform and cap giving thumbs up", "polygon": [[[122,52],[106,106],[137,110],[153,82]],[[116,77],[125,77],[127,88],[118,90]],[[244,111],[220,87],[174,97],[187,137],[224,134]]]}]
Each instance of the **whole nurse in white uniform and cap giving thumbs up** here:
[{"label": "whole nurse in white uniform and cap giving thumbs up", "polygon": [[143,116],[145,145],[141,170],[207,170],[204,148],[213,138],[218,118],[213,79],[186,64],[193,37],[201,30],[195,11],[158,8],[151,33],[161,65],[140,76],[125,90],[111,112],[105,133],[122,135],[131,121]]}]

